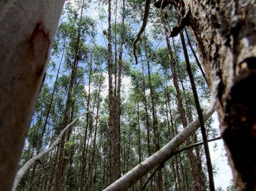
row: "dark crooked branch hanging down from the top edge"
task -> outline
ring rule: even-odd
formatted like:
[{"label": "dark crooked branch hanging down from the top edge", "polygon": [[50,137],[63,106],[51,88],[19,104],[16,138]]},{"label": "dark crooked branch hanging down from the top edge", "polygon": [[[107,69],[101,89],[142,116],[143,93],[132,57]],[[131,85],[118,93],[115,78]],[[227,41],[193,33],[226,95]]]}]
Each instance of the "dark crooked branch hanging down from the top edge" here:
[{"label": "dark crooked branch hanging down from the top edge", "polygon": [[141,34],[145,31],[145,28],[147,26],[147,17],[149,17],[150,3],[151,3],[151,0],[146,0],[145,8],[144,8],[143,23],[142,23],[139,33],[136,35],[136,38],[133,41],[133,54],[134,54],[136,64],[138,64],[138,57],[136,55],[136,43],[139,41]]}]

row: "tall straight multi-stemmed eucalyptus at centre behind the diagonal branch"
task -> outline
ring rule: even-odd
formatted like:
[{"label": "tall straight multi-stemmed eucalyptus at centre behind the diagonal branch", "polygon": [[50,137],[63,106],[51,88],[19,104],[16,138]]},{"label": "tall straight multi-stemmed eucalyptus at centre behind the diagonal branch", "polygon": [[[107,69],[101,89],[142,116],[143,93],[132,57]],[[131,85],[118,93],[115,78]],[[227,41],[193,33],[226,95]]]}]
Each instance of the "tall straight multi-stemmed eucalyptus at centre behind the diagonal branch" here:
[{"label": "tall straight multi-stemmed eucalyptus at centre behind the diagonal branch", "polygon": [[[116,0],[117,9],[117,0]],[[110,136],[110,182],[115,181],[121,176],[121,162],[120,162],[120,117],[121,117],[121,75],[122,75],[122,56],[123,56],[123,43],[124,43],[124,19],[125,19],[125,2],[122,2],[122,23],[120,27],[120,43],[119,43],[119,55],[117,61],[117,30],[116,20],[115,25],[111,23],[111,0],[109,0],[108,8],[108,74],[109,74],[109,136]],[[117,14],[117,10],[115,12]],[[115,15],[116,17],[117,15]],[[114,28],[114,34],[112,29]],[[112,35],[115,35],[115,41],[112,42]],[[115,43],[115,52],[112,53],[112,43]],[[114,55],[114,58],[112,58]],[[113,63],[114,60],[114,63]],[[118,70],[118,71],[117,71]],[[114,76],[114,81],[113,81]],[[114,87],[113,87],[114,84]]]}]

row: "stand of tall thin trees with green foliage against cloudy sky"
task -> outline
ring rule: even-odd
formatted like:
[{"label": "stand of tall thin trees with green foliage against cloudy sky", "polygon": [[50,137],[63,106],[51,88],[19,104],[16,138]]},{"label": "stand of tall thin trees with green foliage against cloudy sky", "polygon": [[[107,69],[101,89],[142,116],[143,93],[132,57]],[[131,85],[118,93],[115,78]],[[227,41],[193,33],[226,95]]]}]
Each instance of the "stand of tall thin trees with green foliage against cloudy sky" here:
[{"label": "stand of tall thin trees with green foliage against cloudy sky", "polygon": [[[53,144],[76,117],[85,115],[67,129],[52,151],[31,166],[17,190],[103,190],[197,117],[180,36],[166,41],[166,34],[179,19],[175,10],[167,15],[166,9],[151,6],[149,23],[137,44],[136,65],[133,41],[143,18],[143,1],[112,1],[111,41],[108,3],[65,3],[19,166]],[[205,109],[210,99],[208,85],[191,34],[187,29],[183,33],[200,104]],[[115,112],[111,113],[111,106]],[[205,123],[208,139],[219,136],[214,120]],[[113,126],[117,132],[111,132]],[[110,148],[115,133],[119,138],[112,144],[120,151]],[[198,130],[181,147],[201,141]],[[213,169],[217,174],[218,169]],[[130,190],[140,190],[149,176]],[[207,187],[206,158],[203,147],[198,146],[169,159],[145,190]],[[234,190],[232,183],[227,190]]]}]

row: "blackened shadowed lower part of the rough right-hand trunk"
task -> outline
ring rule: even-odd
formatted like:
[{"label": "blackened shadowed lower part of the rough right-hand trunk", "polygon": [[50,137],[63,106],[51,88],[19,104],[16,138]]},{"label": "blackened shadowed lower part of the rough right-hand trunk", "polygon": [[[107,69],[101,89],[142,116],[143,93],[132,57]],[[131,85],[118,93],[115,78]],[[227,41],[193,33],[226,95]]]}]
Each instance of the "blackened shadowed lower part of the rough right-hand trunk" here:
[{"label": "blackened shadowed lower part of the rough right-hand trunk", "polygon": [[227,102],[223,139],[238,172],[238,190],[254,190],[256,183],[256,73],[248,70],[238,77]]}]

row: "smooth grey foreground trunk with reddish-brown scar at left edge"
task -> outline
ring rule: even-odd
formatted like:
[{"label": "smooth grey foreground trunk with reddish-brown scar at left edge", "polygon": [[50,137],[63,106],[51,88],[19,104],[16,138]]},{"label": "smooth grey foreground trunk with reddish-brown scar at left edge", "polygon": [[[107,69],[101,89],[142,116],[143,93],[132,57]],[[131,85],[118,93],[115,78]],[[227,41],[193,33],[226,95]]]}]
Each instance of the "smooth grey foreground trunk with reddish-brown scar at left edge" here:
[{"label": "smooth grey foreground trunk with reddish-brown scar at left edge", "polygon": [[64,0],[0,2],[0,190],[11,190]]}]

